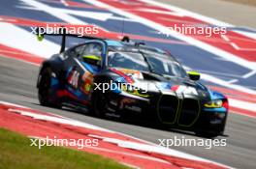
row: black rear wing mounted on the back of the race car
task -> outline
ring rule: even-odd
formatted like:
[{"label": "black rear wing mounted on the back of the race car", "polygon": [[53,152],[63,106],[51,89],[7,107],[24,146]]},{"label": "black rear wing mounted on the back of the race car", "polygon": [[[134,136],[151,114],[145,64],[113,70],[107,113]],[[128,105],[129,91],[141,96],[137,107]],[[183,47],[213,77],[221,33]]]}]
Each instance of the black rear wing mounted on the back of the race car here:
[{"label": "black rear wing mounted on the back of the race car", "polygon": [[[61,36],[61,47],[60,47],[60,53],[65,51],[66,48],[66,37],[73,37],[73,38],[80,38],[80,39],[85,39],[85,40],[107,40],[105,38],[99,38],[99,37],[94,37],[92,35],[78,35],[78,34],[70,34],[67,31],[67,28],[64,26],[60,26],[57,28],[57,30],[54,33],[48,33],[46,31],[41,31],[41,27],[37,27],[34,31],[34,34],[37,36],[38,41],[42,42],[45,38],[45,35],[48,36]],[[121,42],[130,42],[130,38],[127,36],[124,36],[121,40]]]}]

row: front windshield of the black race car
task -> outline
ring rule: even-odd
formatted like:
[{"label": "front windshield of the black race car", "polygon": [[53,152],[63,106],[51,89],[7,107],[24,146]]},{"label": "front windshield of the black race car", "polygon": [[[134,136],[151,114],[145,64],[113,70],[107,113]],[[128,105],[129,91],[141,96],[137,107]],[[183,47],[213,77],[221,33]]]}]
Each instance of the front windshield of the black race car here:
[{"label": "front windshield of the black race car", "polygon": [[108,57],[109,67],[129,70],[150,71],[161,75],[184,77],[185,70],[170,56],[155,52],[143,51],[110,51]]}]

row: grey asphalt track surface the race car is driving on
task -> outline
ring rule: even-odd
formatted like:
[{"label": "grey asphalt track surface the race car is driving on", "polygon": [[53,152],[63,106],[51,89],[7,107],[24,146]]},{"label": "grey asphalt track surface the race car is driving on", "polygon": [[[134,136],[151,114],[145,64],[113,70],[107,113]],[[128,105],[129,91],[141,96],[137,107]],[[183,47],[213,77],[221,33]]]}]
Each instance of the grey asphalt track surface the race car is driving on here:
[{"label": "grey asphalt track surface the race car is driving on", "polygon": [[[177,136],[198,138],[192,133],[162,130],[159,128],[140,126],[140,123],[119,123],[117,120],[103,120],[72,110],[53,109],[39,105],[37,99],[36,80],[38,66],[0,57],[0,100],[29,106],[46,112],[80,120],[99,127],[105,127],[125,134],[129,134],[146,141],[159,144],[158,139],[168,139]],[[172,147],[172,149],[191,155],[202,156],[216,162],[227,164],[235,168],[256,168],[255,138],[256,120],[230,113],[225,131],[226,147],[212,147],[207,150],[203,147]]]}]

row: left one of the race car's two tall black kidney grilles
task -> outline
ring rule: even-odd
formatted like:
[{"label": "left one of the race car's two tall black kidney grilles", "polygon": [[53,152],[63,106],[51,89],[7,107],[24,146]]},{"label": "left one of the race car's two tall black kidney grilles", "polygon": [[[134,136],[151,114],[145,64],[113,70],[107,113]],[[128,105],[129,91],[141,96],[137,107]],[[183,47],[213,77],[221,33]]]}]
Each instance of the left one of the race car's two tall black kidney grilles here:
[{"label": "left one of the race car's two tall black kidney grilles", "polygon": [[178,99],[176,96],[163,95],[158,102],[158,117],[161,122],[174,124],[178,109]]}]

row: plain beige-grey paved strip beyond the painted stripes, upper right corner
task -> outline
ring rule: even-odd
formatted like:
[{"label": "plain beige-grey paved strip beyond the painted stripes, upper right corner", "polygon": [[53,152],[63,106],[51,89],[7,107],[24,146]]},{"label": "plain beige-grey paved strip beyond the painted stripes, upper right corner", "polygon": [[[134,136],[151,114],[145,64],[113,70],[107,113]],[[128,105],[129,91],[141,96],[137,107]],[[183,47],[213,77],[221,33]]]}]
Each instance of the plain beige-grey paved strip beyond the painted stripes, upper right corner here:
[{"label": "plain beige-grey paved strip beyond the painted stripes, upper right corner", "polygon": [[[189,10],[198,14],[208,15],[228,23],[256,29],[256,7],[246,3],[223,0],[159,0],[166,4]],[[216,13],[217,9],[217,13]]]}]

